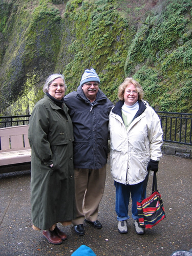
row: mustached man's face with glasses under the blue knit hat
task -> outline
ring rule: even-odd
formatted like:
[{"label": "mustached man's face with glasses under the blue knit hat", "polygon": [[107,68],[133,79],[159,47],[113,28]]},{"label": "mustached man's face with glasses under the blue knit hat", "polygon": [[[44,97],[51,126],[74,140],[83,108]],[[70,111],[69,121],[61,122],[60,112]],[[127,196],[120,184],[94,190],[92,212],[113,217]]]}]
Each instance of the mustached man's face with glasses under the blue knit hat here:
[{"label": "mustached man's face with glasses under the blue knit hat", "polygon": [[89,100],[94,101],[99,91],[99,83],[94,81],[86,82],[82,85],[82,90]]}]

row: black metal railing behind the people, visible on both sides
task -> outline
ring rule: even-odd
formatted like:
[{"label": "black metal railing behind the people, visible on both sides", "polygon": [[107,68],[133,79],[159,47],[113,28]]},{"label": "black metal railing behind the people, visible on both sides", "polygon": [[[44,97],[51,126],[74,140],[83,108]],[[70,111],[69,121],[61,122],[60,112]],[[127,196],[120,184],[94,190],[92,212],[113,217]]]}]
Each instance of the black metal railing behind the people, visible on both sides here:
[{"label": "black metal railing behind the people, visible on both sides", "polygon": [[[192,114],[156,111],[163,130],[163,141],[192,146]],[[0,128],[29,124],[30,115],[2,116]]]}]

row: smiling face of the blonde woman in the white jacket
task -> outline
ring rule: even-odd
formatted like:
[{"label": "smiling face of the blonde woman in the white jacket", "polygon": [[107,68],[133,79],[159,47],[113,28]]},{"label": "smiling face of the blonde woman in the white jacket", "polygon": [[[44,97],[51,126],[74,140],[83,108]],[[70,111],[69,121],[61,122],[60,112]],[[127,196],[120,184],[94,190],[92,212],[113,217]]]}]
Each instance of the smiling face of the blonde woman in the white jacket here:
[{"label": "smiling face of the blonde woman in the white jacket", "polygon": [[124,90],[124,102],[128,106],[132,106],[138,101],[138,92],[133,83],[128,84]]}]

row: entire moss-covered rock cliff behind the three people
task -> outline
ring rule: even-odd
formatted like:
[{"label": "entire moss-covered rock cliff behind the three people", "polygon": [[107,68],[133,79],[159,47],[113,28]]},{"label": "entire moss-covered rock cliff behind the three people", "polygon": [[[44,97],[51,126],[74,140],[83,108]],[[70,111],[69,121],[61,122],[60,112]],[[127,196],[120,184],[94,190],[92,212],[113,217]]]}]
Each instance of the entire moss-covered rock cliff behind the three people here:
[{"label": "entire moss-covered rock cliff behind the three people", "polygon": [[[139,2],[139,3],[138,3]],[[67,93],[94,68],[114,103],[127,76],[156,110],[191,113],[191,1],[3,0],[1,115],[31,113],[51,73]]]}]

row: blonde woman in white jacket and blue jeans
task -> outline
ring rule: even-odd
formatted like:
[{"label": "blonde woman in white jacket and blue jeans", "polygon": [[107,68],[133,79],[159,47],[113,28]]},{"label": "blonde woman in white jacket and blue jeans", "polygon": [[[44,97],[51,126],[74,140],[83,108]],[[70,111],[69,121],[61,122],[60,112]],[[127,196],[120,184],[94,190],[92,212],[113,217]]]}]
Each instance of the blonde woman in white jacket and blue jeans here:
[{"label": "blonde woman in white jacket and blue jeans", "polygon": [[136,233],[144,233],[138,222],[137,201],[142,198],[148,170],[158,171],[162,155],[160,119],[142,100],[143,95],[140,84],[126,78],[119,86],[120,100],[110,113],[111,173],[116,187],[115,210],[120,233],[127,232],[130,194]]}]

